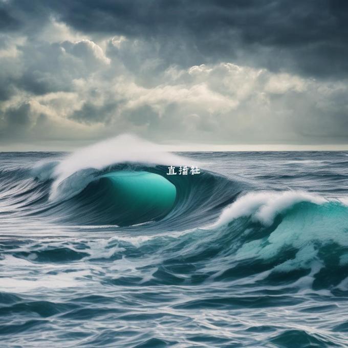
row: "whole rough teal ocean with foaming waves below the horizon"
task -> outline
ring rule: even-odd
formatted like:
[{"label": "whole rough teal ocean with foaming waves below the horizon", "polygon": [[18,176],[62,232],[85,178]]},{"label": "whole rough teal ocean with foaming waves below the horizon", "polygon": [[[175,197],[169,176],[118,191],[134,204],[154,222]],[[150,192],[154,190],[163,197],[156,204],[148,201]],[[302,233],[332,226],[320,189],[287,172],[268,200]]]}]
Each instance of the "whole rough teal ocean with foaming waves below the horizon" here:
[{"label": "whole rough teal ocean with foaming waves below the horizon", "polygon": [[0,153],[1,347],[348,346],[348,152],[103,146]]}]

